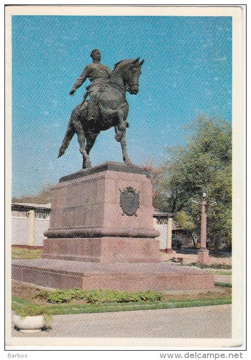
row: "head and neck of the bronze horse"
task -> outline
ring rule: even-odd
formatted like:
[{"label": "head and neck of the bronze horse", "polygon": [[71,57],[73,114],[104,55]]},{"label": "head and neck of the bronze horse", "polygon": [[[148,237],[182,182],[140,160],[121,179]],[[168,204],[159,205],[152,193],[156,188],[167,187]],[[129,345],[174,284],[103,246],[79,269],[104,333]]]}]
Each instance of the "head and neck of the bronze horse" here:
[{"label": "head and neck of the bronze horse", "polygon": [[132,95],[136,95],[139,92],[139,77],[141,74],[141,66],[144,62],[139,62],[139,60],[140,58],[136,60],[122,60],[115,65],[115,69],[120,72],[123,78],[124,85]]}]

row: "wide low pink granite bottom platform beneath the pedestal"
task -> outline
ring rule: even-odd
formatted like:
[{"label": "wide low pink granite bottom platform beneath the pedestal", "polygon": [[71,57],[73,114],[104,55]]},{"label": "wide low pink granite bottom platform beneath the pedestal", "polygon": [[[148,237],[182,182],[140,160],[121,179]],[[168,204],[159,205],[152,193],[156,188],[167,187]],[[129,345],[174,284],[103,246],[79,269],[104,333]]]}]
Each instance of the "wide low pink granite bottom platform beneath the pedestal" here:
[{"label": "wide low pink granite bottom platform beneath the pedestal", "polygon": [[166,263],[94,263],[71,260],[13,260],[12,279],[49,288],[191,290],[214,288],[201,269]]}]

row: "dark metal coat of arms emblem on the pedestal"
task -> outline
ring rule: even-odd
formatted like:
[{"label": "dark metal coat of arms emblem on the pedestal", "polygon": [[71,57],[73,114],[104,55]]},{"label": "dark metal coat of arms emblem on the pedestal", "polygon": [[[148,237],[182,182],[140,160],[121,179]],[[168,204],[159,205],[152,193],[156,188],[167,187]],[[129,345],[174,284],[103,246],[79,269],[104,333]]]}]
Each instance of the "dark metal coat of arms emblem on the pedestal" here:
[{"label": "dark metal coat of arms emblem on the pedestal", "polygon": [[120,206],[123,210],[122,215],[137,216],[136,211],[140,206],[140,192],[136,192],[131,186],[126,190],[120,190]]}]

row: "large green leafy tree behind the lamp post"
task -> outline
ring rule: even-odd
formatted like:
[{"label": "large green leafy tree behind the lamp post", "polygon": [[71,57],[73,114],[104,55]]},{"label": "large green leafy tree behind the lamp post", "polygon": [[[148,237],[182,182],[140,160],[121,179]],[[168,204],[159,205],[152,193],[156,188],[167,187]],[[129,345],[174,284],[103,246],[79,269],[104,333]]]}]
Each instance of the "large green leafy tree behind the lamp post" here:
[{"label": "large green leafy tree behind the lamp post", "polygon": [[[222,244],[230,248],[231,124],[203,115],[186,130],[186,144],[169,148],[167,159],[159,168],[160,191],[156,193],[155,206],[166,212],[183,211],[183,220],[186,214],[195,226],[189,231],[199,235],[201,208],[191,200],[201,200],[202,192],[206,191],[207,201],[216,201],[214,206],[207,207],[208,242],[215,250]],[[178,215],[179,219],[182,216]]]}]

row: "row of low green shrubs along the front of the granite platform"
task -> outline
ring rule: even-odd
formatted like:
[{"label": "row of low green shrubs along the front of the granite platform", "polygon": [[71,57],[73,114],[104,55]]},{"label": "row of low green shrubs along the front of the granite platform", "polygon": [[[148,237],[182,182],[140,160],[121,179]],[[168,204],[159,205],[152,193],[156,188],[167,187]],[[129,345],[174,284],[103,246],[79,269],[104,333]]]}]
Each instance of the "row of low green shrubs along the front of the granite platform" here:
[{"label": "row of low green shrubs along the front of the granite platform", "polygon": [[[36,295],[41,296],[40,292]],[[161,300],[163,293],[159,291],[116,291],[116,290],[82,290],[80,288],[57,289],[46,296],[50,303],[69,303],[73,299],[85,300],[87,303],[105,303],[105,302],[137,302],[137,301],[155,301]]]}]

